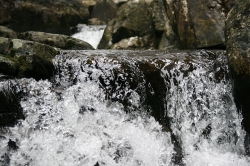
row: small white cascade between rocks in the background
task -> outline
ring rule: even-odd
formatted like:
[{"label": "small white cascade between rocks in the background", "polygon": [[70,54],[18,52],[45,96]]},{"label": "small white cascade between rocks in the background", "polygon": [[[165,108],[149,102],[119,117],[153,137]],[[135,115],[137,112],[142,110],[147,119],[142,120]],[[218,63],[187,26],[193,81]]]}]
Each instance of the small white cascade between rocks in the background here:
[{"label": "small white cascade between rocks in the background", "polygon": [[79,24],[80,32],[73,34],[72,37],[88,42],[97,48],[106,25],[85,25]]}]

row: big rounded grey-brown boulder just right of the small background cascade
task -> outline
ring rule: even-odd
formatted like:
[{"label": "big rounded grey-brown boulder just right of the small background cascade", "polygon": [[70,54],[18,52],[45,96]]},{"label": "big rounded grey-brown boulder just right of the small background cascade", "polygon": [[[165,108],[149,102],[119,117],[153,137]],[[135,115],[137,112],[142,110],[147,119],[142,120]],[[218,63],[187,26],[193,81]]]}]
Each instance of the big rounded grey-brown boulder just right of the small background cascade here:
[{"label": "big rounded grey-brown boulder just right of the small background cascade", "polygon": [[122,5],[117,17],[108,23],[98,48],[109,48],[125,38],[154,34],[148,5],[145,1],[140,3],[129,1]]}]

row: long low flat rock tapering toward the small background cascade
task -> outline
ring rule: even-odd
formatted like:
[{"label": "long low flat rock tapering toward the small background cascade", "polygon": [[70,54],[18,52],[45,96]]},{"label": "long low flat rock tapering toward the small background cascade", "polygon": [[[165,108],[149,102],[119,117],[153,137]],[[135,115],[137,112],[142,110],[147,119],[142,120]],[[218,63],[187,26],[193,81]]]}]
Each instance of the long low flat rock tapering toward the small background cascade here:
[{"label": "long low flat rock tapering toward the small background cascade", "polygon": [[46,44],[64,50],[94,50],[87,42],[60,34],[28,31],[20,33],[18,38]]}]

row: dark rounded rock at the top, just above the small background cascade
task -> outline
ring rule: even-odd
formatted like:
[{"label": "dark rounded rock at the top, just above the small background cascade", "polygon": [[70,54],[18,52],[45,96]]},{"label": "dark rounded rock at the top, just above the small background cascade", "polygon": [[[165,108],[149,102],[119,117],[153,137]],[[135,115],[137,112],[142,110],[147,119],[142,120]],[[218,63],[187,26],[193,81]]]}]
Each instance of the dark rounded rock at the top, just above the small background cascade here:
[{"label": "dark rounded rock at the top, just above the small background cascade", "polygon": [[[117,8],[118,7],[113,2],[113,0],[99,1],[93,7],[93,10],[91,12],[91,18],[98,19],[100,20],[100,22],[104,22],[105,25],[107,25],[110,20],[115,18]],[[98,25],[104,25],[104,24],[98,24]]]}]

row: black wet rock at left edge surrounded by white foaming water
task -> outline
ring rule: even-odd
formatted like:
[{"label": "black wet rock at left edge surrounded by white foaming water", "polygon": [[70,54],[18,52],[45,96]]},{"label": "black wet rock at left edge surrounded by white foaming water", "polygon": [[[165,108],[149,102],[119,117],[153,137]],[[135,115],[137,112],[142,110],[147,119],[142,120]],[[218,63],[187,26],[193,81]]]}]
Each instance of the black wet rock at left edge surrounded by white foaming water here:
[{"label": "black wet rock at left edge surrounded by white foaming water", "polygon": [[11,82],[0,84],[0,127],[14,126],[24,119],[17,94],[11,88]]}]

